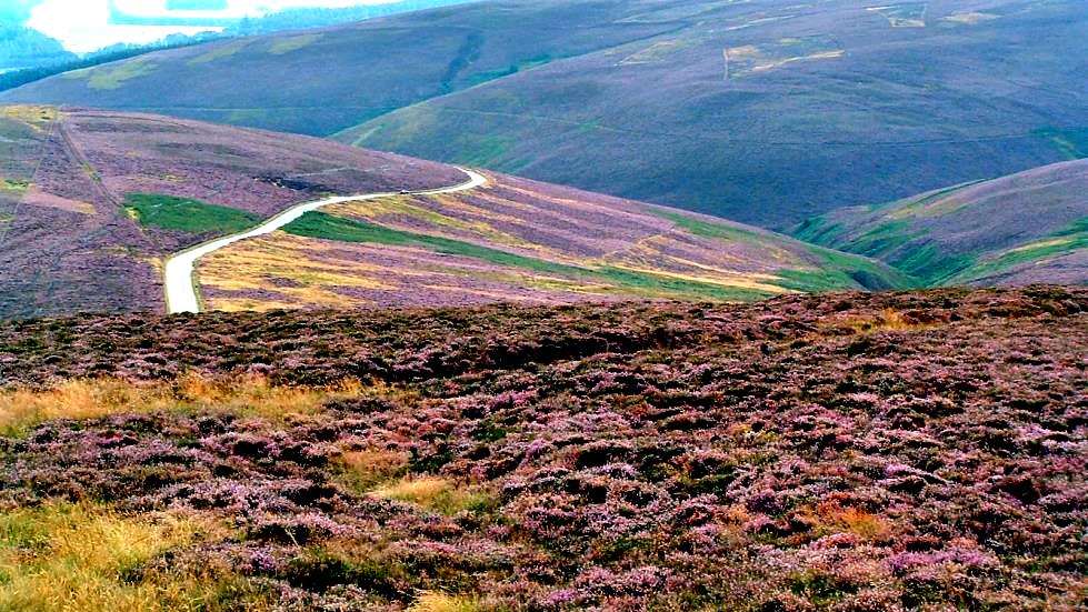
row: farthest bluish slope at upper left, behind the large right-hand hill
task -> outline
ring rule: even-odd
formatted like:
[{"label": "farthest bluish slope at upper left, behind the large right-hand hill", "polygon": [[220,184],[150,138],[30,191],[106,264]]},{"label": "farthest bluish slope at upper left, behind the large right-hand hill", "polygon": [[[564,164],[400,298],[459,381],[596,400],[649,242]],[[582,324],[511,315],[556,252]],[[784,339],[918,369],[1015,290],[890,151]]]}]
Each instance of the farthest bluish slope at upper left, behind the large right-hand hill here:
[{"label": "farthest bluish slope at upper left, behind the large right-hand hill", "polygon": [[36,82],[0,99],[140,109],[327,136],[552,59],[675,28],[619,22],[629,9],[616,0],[506,4],[150,53]]}]

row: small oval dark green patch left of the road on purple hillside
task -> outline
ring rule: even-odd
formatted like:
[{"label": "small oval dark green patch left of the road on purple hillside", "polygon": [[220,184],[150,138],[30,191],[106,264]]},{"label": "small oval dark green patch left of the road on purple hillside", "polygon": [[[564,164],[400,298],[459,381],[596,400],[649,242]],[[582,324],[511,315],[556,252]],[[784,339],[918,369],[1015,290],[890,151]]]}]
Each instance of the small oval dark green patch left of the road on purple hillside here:
[{"label": "small oval dark green patch left of the road on purple hillside", "polygon": [[243,210],[159,193],[128,194],[124,211],[143,225],[190,233],[234,233],[260,221]]}]

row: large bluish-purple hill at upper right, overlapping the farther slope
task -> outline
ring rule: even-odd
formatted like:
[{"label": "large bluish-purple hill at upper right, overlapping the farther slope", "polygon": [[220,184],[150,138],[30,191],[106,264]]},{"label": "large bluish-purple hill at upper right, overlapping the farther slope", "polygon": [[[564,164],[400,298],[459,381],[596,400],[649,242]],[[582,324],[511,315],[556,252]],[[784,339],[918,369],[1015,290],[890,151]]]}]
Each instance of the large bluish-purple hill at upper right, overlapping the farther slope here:
[{"label": "large bluish-purple hill at upper right, overlapping the farther slope", "polygon": [[[972,10],[996,18],[944,20]],[[1088,81],[1059,59],[1086,57],[1080,3],[929,3],[926,16],[894,28],[857,2],[719,4],[675,33],[337,138],[776,229],[1084,154]]]}]

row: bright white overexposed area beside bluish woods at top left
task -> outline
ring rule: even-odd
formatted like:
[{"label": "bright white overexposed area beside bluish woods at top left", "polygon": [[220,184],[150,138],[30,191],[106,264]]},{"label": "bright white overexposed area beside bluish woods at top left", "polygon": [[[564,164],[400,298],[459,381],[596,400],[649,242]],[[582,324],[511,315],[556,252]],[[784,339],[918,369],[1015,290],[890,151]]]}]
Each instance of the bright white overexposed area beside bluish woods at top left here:
[{"label": "bright white overexposed area beside bluish woods at top left", "polygon": [[[2,1],[2,0],[0,0]],[[341,8],[380,4],[397,0],[229,0],[223,11],[167,11],[167,0],[114,0],[126,13],[160,17],[257,17],[299,7]],[[109,22],[108,0],[42,0],[27,26],[61,41],[69,51],[86,53],[118,42],[148,43],[172,33],[194,34],[217,28],[114,26]]]}]

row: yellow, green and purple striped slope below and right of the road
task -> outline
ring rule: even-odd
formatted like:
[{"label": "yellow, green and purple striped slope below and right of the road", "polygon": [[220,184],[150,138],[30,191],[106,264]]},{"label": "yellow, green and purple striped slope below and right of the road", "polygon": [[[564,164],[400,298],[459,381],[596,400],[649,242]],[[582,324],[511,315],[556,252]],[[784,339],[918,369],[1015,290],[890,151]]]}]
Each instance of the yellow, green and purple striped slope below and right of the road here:
[{"label": "yellow, green and purple striped slope below and right of the road", "polygon": [[909,287],[874,260],[753,227],[493,175],[457,195],[397,195],[310,212],[207,258],[213,309],[747,301]]}]

